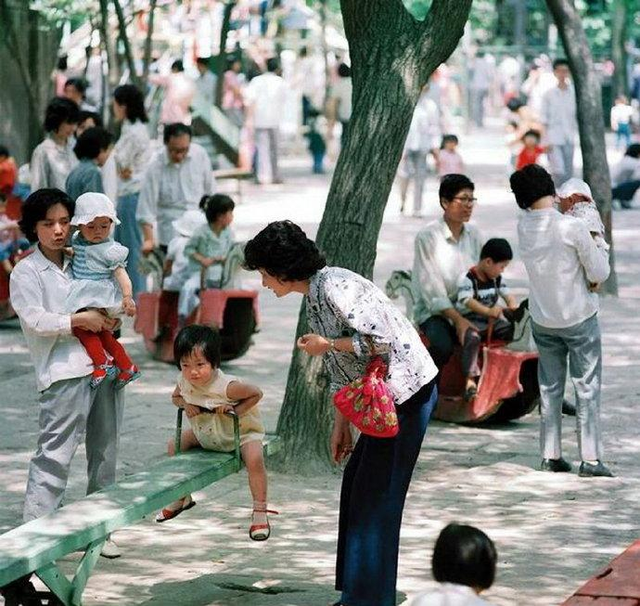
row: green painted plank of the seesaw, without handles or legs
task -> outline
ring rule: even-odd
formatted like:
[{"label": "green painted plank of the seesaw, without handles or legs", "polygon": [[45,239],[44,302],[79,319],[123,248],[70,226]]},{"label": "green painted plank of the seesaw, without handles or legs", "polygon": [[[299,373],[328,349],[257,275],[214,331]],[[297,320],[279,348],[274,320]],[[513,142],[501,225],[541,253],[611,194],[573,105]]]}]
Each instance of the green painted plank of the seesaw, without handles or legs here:
[{"label": "green painted plank of the seesaw, without handles or legs", "polygon": [[[268,436],[264,448],[275,454],[279,438]],[[233,453],[191,450],[14,528],[0,535],[0,587],[236,471]]]}]

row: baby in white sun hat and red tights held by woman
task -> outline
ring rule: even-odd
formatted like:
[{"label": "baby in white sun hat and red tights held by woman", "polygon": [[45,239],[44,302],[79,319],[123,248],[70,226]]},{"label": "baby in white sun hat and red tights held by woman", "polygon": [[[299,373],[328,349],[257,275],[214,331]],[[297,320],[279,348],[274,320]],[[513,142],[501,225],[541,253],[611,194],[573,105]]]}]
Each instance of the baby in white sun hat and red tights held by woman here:
[{"label": "baby in white sun hat and red tights held by woman", "polygon": [[[71,219],[71,225],[79,229],[71,239],[73,282],[67,297],[70,313],[84,309],[102,310],[110,316],[122,311],[128,316],[136,313],[131,280],[125,270],[129,251],[110,239],[114,223],[117,225],[120,221],[111,200],[104,194],[86,193],[77,199]],[[93,389],[116,373],[116,389],[122,389],[140,376],[138,367],[110,331],[92,332],[76,327],[73,334],[93,361]]]}]

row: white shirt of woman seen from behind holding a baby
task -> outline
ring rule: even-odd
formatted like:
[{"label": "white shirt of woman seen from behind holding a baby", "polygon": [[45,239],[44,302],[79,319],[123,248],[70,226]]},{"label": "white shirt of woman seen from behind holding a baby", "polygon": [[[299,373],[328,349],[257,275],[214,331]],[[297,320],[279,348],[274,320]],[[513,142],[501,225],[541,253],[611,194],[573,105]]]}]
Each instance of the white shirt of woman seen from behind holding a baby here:
[{"label": "white shirt of woman seen from behind holding a baby", "polygon": [[536,324],[568,328],[597,313],[598,295],[589,282],[609,277],[609,260],[583,221],[555,208],[527,210],[518,221],[518,240]]}]

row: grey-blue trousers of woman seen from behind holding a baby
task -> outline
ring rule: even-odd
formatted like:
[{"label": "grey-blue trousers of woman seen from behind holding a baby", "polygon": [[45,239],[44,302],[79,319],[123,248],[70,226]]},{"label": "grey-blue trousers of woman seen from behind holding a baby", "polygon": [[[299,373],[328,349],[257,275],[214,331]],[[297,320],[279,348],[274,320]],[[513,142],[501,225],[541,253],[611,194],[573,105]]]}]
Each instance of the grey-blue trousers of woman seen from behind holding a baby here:
[{"label": "grey-blue trousers of woman seen from behind holding a baby", "polygon": [[600,385],[602,348],[598,316],[568,328],[545,328],[532,322],[540,359],[540,449],[544,459],[562,456],[562,400],[569,374],[576,397],[578,448],[583,461],[602,458]]}]

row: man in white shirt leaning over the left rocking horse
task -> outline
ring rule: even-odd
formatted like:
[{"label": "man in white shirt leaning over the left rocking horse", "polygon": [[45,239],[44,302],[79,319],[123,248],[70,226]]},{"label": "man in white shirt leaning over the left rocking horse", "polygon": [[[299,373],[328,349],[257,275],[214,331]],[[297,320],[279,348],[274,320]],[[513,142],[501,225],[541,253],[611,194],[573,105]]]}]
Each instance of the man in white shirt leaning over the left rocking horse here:
[{"label": "man in white shirt leaning over the left rocking horse", "polygon": [[136,210],[142,253],[150,253],[157,245],[166,252],[174,236],[173,221],[197,209],[202,196],[214,189],[211,160],[202,146],[191,141],[191,127],[166,126],[164,149],[156,153],[145,172]]}]

